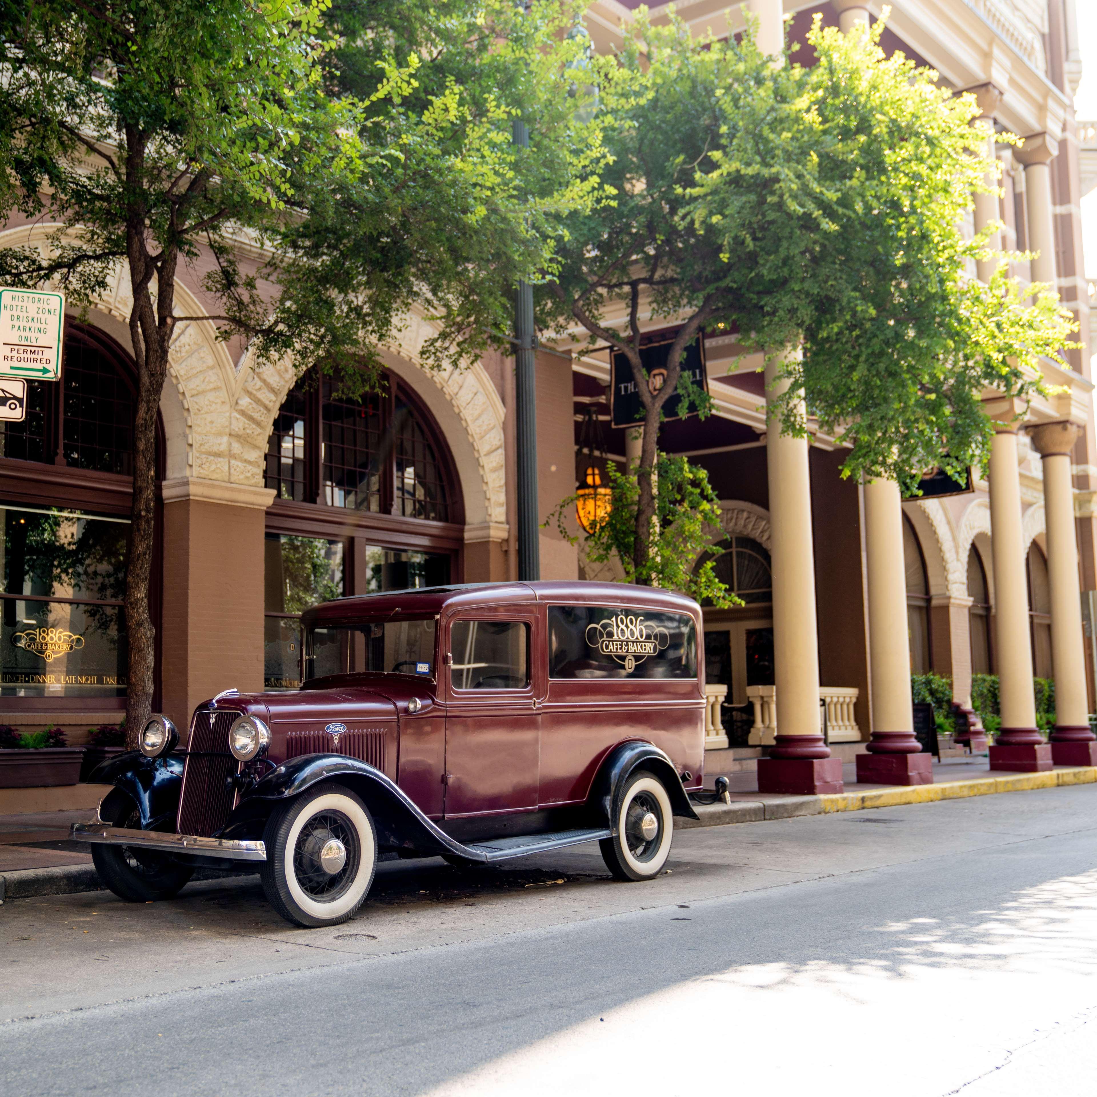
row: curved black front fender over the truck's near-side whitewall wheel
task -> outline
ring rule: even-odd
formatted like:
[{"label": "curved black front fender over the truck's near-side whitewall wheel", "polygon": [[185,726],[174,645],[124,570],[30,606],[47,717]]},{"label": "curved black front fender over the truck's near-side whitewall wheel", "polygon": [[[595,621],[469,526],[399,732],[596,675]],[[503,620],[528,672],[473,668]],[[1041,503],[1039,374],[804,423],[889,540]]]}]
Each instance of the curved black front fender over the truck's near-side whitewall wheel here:
[{"label": "curved black front fender over the truck's near-side whitewall wheel", "polygon": [[440,829],[380,769],[347,755],[304,755],[282,762],[241,798],[222,835],[235,835],[234,823],[238,823],[242,834],[248,819],[270,814],[274,802],[297,796],[320,781],[337,781],[362,800],[373,816],[377,841],[385,849],[425,857],[453,853],[466,860],[487,860]]}]

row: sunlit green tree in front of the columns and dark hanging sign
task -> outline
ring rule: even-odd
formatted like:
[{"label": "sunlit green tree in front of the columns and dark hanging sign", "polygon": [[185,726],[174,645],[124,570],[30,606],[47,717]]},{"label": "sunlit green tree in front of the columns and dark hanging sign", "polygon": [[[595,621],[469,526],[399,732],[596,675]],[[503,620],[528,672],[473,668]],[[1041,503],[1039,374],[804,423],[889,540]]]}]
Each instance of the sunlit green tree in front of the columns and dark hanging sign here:
[{"label": "sunlit green tree in front of the columns and dark hanging sign", "polygon": [[[597,60],[603,189],[564,219],[541,323],[578,323],[632,365],[644,404],[637,575],[658,508],[659,422],[668,405],[705,410],[680,373],[702,329],[738,331],[746,350],[799,347],[781,369],[782,429],[806,431],[806,396],[849,444],[846,475],[905,485],[942,460],[981,464],[979,394],[1030,392],[1040,355],[1064,343],[1068,314],[1049,287],[1032,287],[1029,307],[1004,272],[989,286],[969,276],[985,240],[960,226],[993,170],[976,108],[885,57],[881,27],[847,37],[816,23],[807,67],[774,64],[749,31],[693,38],[642,13],[617,56]],[[657,392],[640,358],[645,316],[678,325]]]}]

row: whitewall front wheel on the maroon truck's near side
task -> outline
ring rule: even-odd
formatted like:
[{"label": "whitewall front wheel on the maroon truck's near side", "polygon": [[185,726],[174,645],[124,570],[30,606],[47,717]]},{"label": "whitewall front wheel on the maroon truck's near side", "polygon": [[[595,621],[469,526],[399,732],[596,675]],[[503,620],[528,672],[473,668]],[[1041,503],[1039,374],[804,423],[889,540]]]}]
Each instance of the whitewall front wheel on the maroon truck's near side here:
[{"label": "whitewall front wheel on the maroon truck's near side", "polygon": [[274,811],[264,833],[267,900],[306,929],[346,921],[362,905],[377,864],[365,805],[349,789],[320,784]]}]

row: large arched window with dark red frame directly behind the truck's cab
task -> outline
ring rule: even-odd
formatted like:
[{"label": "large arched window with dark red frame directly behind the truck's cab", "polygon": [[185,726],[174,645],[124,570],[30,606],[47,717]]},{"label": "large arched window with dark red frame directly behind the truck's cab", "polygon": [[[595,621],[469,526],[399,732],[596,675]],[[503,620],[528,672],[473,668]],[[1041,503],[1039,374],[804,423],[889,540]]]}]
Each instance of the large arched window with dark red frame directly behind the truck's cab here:
[{"label": "large arched window with dark red frame directly behind the truck's cab", "polygon": [[267,689],[299,685],[299,619],[343,595],[444,586],[462,577],[463,506],[449,448],[392,374],[360,400],[306,377],[267,448]]}]

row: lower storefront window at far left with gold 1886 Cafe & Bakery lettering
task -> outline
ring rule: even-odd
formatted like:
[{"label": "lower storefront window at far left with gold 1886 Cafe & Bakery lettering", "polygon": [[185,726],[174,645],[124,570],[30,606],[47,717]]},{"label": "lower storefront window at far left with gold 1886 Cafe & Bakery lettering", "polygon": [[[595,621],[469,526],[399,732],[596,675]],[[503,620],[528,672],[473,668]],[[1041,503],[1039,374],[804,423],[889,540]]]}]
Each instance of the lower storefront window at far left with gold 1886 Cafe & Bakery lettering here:
[{"label": "lower storefront window at far left with gold 1886 Cafe & Bakery lettering", "polygon": [[0,693],[124,697],[129,522],[0,506]]}]

